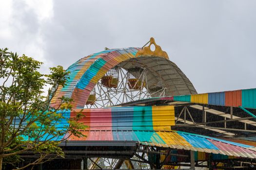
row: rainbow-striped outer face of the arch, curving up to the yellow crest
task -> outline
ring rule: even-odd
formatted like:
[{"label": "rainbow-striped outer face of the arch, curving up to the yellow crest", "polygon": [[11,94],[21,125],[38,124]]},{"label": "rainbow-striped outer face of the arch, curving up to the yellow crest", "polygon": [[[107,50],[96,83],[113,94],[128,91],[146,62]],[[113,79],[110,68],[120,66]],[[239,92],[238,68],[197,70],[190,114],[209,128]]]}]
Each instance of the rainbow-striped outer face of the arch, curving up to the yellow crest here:
[{"label": "rainbow-striped outer face of the arch, curving up to the yellow crest", "polygon": [[71,65],[66,86],[59,87],[51,100],[51,107],[58,107],[62,96],[73,99],[73,108],[84,108],[94,86],[105,73],[118,63],[135,57],[140,48],[105,50],[84,57]]}]

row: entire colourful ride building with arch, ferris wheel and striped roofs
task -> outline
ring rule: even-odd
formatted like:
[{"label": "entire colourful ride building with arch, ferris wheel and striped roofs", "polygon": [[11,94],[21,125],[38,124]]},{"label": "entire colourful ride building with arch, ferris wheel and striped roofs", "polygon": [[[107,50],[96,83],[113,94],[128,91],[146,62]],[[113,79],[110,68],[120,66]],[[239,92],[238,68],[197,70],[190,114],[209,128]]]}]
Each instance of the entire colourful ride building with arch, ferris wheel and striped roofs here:
[{"label": "entire colourful ride building with arch, ferris wheel and striped roofs", "polygon": [[256,167],[256,89],[197,94],[154,38],[148,43],[106,48],[67,69],[51,107],[72,98],[69,116],[85,108],[89,128],[61,143],[65,159],[42,169]]}]

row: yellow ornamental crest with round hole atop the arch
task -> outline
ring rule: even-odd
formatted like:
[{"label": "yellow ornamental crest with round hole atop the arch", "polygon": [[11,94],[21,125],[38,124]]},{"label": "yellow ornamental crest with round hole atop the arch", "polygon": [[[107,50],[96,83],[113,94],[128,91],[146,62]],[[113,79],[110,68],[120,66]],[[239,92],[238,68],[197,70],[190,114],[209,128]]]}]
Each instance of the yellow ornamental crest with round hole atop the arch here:
[{"label": "yellow ornamental crest with round hole atop the arch", "polygon": [[[155,51],[152,51],[150,49],[151,46],[155,46]],[[156,44],[155,39],[153,37],[150,38],[149,46],[144,47],[142,51],[138,51],[135,56],[159,56],[169,59],[168,54],[165,51],[162,51],[161,47]]]}]

